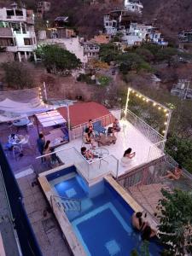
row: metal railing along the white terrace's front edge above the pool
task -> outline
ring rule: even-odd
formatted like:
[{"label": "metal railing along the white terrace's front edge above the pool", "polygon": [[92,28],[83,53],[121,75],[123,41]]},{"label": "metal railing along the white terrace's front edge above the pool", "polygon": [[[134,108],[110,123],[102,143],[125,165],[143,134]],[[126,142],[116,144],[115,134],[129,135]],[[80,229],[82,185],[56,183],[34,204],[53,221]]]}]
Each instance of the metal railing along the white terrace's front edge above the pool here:
[{"label": "metal railing along the white terrace's front edge above the pool", "polygon": [[[113,177],[117,177],[118,175],[119,160],[112,154],[105,157],[100,156],[93,160],[86,160],[76,148],[72,147],[58,149],[49,154],[38,156],[36,159],[44,159],[47,156],[50,156],[50,158],[53,156],[54,158],[58,158],[61,163],[66,166],[76,166],[77,171],[88,181],[93,181],[109,173],[111,173]],[[51,168],[50,166],[49,169]]]}]

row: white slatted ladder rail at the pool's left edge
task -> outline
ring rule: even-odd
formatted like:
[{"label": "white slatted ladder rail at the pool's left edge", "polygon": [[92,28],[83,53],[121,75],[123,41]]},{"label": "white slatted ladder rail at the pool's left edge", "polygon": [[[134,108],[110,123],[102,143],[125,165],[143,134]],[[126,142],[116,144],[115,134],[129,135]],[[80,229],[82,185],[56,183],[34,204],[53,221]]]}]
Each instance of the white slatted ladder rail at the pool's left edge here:
[{"label": "white slatted ladder rail at the pool's left edge", "polygon": [[53,207],[53,199],[55,200],[55,198],[59,198],[59,201],[57,202],[58,207],[64,208],[65,212],[81,212],[81,200],[80,199],[76,199],[76,198],[68,198],[68,197],[63,197],[63,196],[59,196],[59,195],[51,195],[50,197],[50,201],[51,201],[51,205]]}]

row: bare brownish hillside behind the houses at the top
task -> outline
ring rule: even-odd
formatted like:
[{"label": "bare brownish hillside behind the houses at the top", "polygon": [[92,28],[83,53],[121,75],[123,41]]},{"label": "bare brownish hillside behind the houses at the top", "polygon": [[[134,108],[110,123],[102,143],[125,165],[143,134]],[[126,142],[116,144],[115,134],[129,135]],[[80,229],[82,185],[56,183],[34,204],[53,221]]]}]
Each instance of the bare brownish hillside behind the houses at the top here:
[{"label": "bare brownish hillside behind the houses at the top", "polygon": [[[17,0],[16,2],[20,2]],[[50,22],[58,15],[68,15],[72,26],[82,36],[91,37],[102,30],[103,15],[112,9],[121,9],[124,0],[49,0],[51,9],[44,17]],[[177,32],[192,28],[191,0],[141,0],[144,6],[143,21],[160,28],[166,39],[177,39]],[[14,1],[0,0],[0,6]],[[26,7],[36,10],[38,0],[23,0]]]}]

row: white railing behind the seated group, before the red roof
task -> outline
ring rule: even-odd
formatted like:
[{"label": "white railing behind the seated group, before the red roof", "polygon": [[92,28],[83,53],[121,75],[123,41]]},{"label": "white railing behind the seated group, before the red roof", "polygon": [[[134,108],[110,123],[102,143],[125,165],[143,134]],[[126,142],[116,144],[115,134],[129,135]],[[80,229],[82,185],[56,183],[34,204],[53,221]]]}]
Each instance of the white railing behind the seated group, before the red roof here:
[{"label": "white railing behind the seated group, before the red roof", "polygon": [[[114,117],[112,113],[108,113],[107,115],[104,115],[98,119],[92,119],[92,123],[95,123],[96,121],[101,121],[102,126],[108,126],[113,123]],[[74,126],[72,128],[72,138],[75,139],[77,137],[82,137],[84,128],[88,126],[88,121],[85,122],[84,124]]]}]

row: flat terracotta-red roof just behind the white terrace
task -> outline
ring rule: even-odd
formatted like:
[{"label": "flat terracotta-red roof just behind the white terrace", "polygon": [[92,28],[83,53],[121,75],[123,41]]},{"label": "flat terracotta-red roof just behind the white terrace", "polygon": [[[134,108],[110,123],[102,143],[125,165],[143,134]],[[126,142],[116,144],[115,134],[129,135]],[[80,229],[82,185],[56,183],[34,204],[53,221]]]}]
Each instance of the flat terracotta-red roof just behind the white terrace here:
[{"label": "flat terracotta-red roof just behind the white terrace", "polygon": [[[61,115],[67,119],[67,108],[58,108]],[[69,106],[70,121],[72,126],[81,125],[89,119],[98,119],[110,112],[107,108],[96,102],[76,103]]]}]

